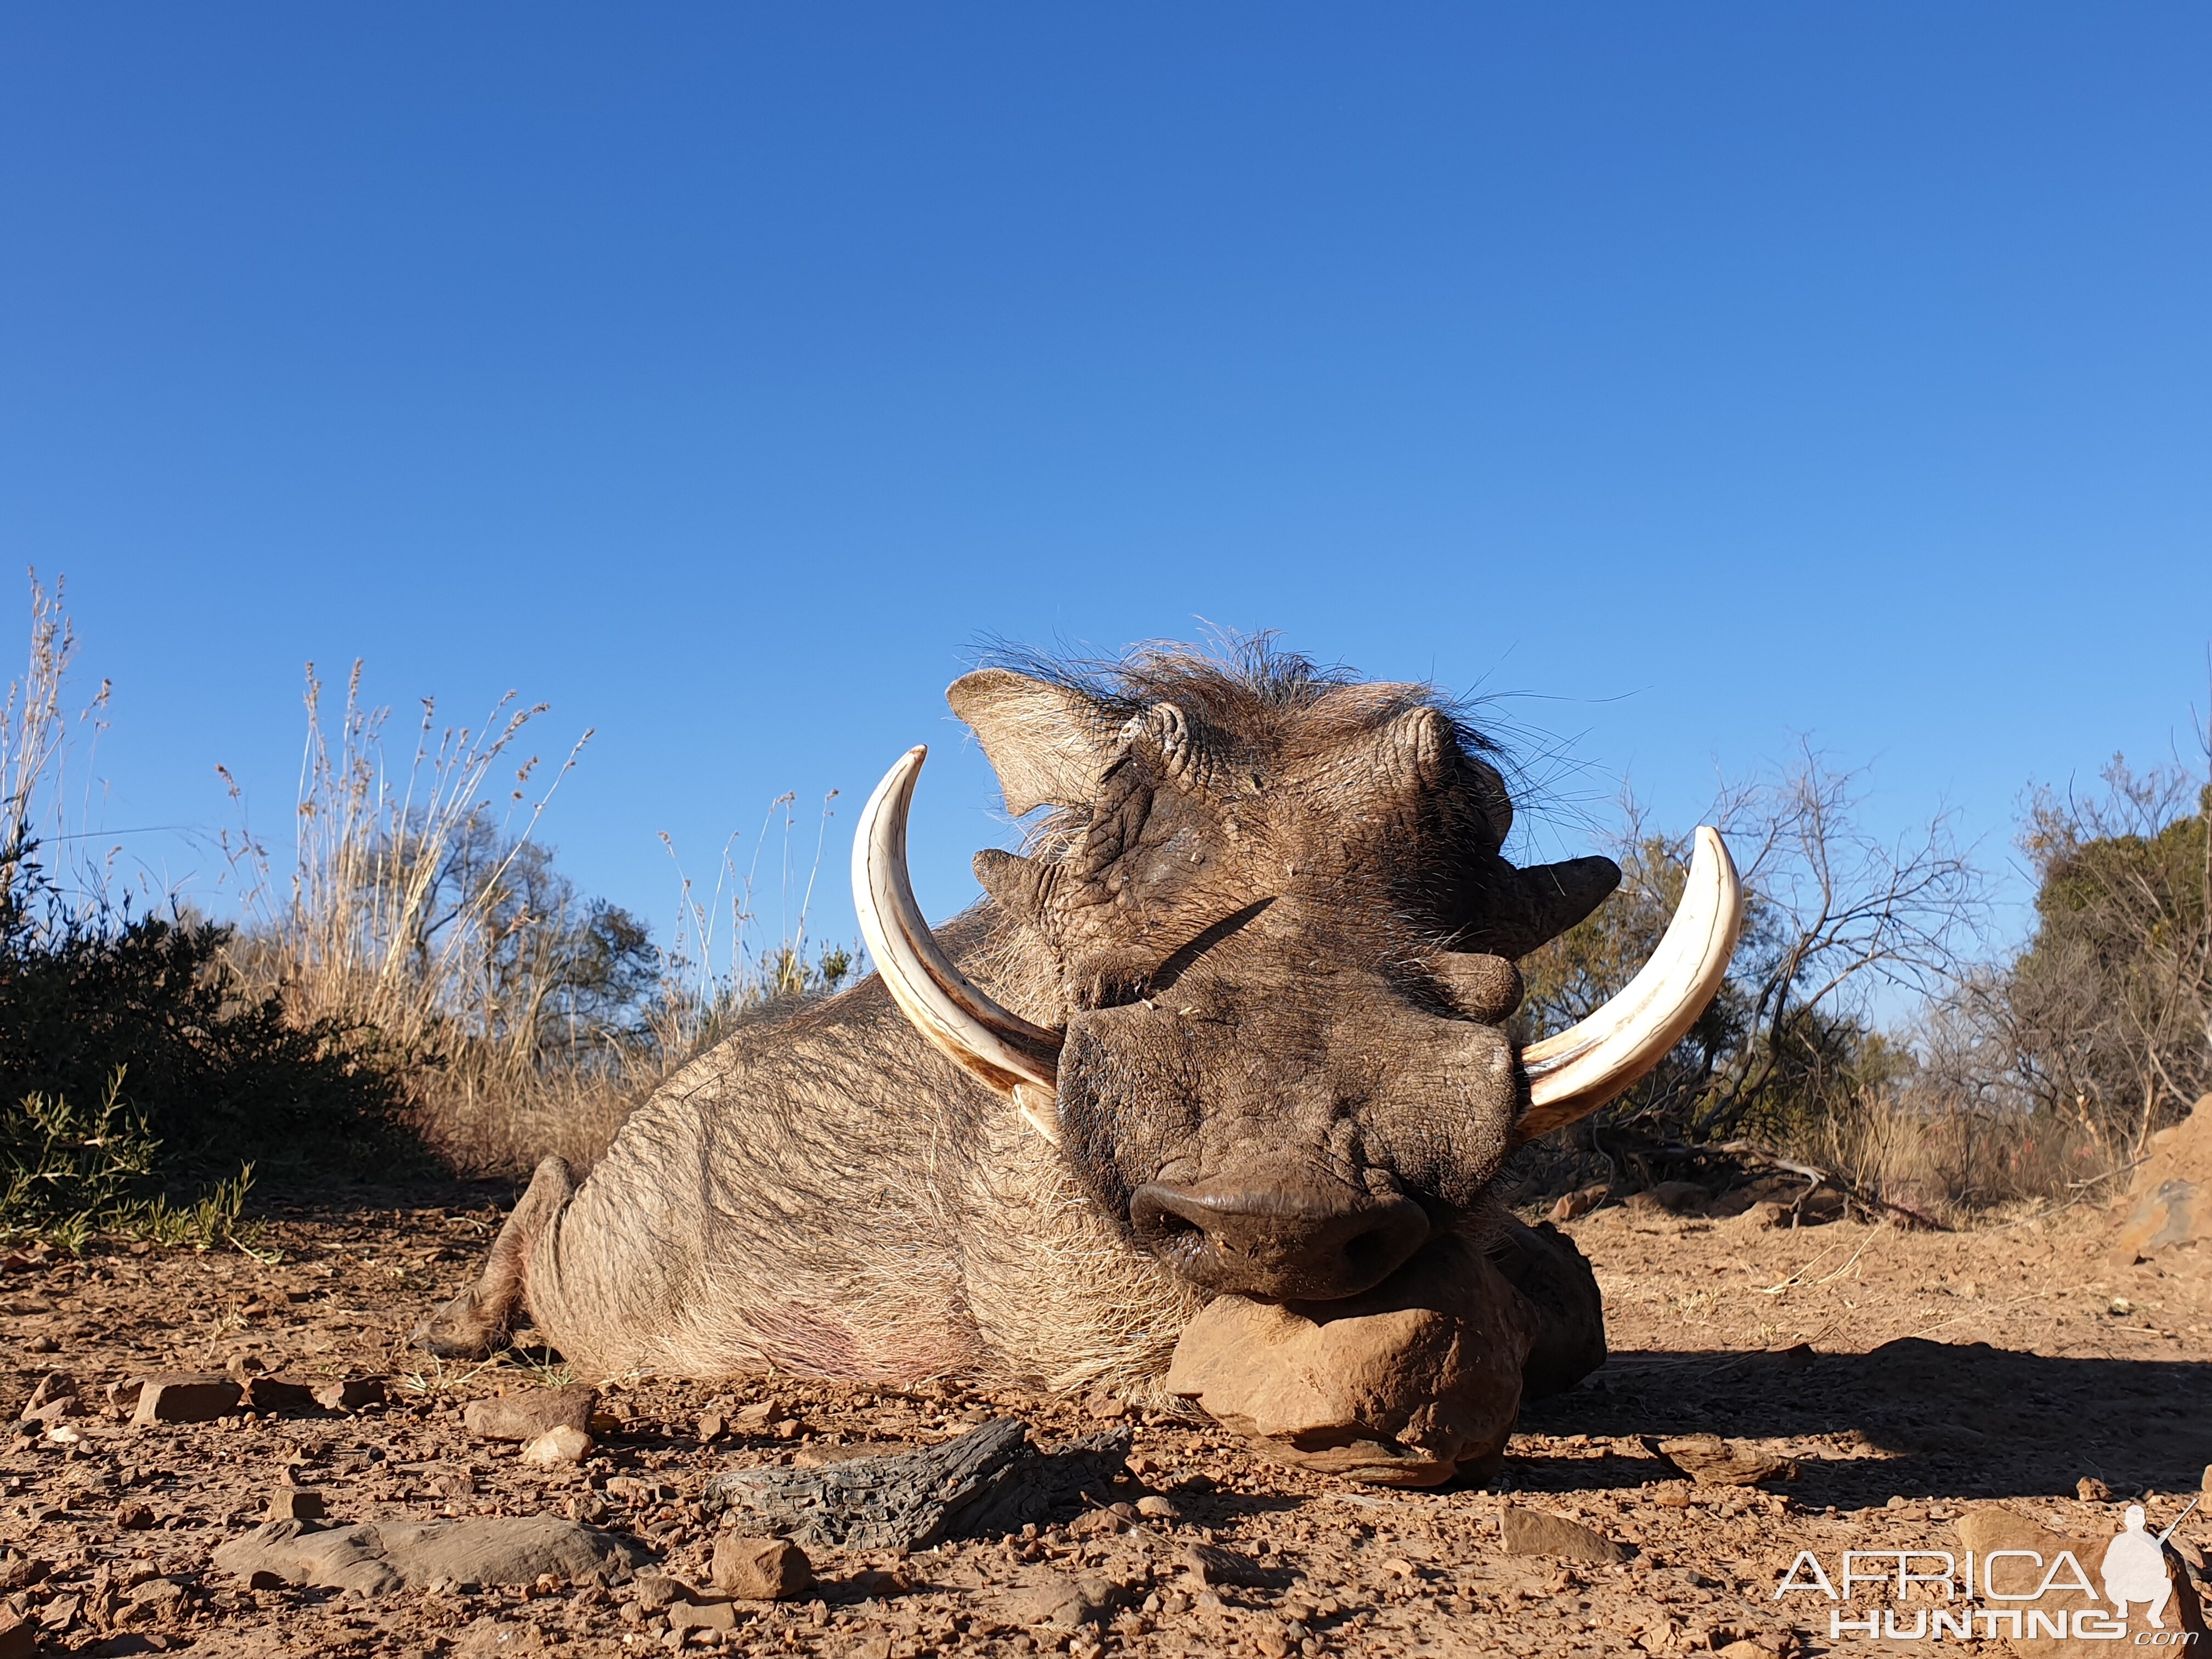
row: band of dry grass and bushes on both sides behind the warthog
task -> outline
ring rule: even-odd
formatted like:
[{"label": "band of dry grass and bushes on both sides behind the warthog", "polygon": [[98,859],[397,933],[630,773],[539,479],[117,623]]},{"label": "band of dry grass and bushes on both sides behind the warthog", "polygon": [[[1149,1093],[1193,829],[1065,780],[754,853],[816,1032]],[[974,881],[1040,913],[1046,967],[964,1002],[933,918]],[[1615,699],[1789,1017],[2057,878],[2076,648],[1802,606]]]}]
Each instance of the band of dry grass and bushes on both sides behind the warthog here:
[{"label": "band of dry grass and bushes on both sides behind the warthog", "polygon": [[[288,832],[241,821],[223,836],[237,920],[161,896],[133,911],[97,856],[46,858],[100,845],[75,838],[69,765],[106,688],[71,714],[73,650],[60,591],[33,582],[29,668],[0,726],[13,1230],[82,1232],[93,1210],[115,1223],[164,1177],[175,1201],[228,1177],[234,1217],[241,1164],[268,1177],[272,1157],[327,1146],[427,1148],[465,1175],[546,1152],[591,1164],[734,1020],[858,967],[807,938],[827,801],[816,825],[776,801],[743,865],[737,836],[723,847],[710,887],[677,872],[679,920],[657,945],[538,838],[591,732],[546,774],[542,706],[509,697],[480,728],[449,728],[425,701],[396,743],[358,666],[336,710],[310,668]],[[1723,792],[1710,821],[1752,896],[1732,978],[1632,1095],[1524,1157],[1524,1194],[1705,1175],[1714,1148],[1739,1148],[1953,1221],[2101,1199],[2212,1088],[2201,774],[2115,761],[2093,796],[2037,794],[2020,843],[2037,927],[1995,956],[1986,878],[1949,825],[1880,841],[1863,783],[1807,750]],[[796,916],[776,940],[754,905],[763,847]],[[1524,964],[1528,1035],[1617,991],[1666,927],[1688,838],[1628,803],[1610,849],[1624,891]]]}]

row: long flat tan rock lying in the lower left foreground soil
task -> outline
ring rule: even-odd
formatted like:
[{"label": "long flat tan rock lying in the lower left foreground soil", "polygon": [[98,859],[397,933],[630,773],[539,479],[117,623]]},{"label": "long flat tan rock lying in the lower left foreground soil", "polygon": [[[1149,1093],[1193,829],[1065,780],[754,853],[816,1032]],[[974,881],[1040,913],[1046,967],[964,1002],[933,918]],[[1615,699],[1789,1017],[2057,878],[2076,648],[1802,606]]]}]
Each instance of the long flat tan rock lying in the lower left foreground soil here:
[{"label": "long flat tan rock lying in the lower left foreground soil", "polygon": [[215,1551],[226,1573],[276,1573],[288,1584],[321,1584],[358,1595],[453,1584],[535,1584],[540,1575],[577,1582],[619,1579],[639,1553],[613,1537],[553,1515],[478,1515],[458,1522],[374,1522],[321,1528],[279,1520]]}]

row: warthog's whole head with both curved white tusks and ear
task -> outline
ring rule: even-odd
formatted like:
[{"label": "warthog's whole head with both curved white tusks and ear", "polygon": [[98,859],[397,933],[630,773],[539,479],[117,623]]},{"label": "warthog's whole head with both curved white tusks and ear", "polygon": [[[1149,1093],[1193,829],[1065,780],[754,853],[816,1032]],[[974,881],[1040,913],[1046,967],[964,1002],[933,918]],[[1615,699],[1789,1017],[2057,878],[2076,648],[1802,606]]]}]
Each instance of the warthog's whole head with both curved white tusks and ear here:
[{"label": "warthog's whole head with both curved white tusks and ear", "polygon": [[1053,1139],[1130,1241],[1201,1292],[1356,1296],[1480,1203],[1513,1146],[1626,1088],[1710,1000],[1734,872],[1701,832],[1659,958],[1517,1048],[1515,960],[1590,914],[1610,858],[1517,869],[1486,743],[1425,686],[1301,659],[987,668],[953,710],[1026,856],[984,852],[1000,984],[942,956],[907,883],[925,750],[869,801],[854,887],[914,1024]]}]

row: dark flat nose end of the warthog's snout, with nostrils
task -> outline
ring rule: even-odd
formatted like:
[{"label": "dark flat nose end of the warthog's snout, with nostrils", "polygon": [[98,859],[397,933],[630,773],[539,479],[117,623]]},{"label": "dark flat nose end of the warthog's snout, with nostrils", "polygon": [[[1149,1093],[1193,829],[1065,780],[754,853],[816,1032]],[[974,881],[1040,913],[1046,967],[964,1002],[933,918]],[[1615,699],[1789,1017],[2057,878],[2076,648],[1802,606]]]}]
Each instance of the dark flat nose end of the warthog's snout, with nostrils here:
[{"label": "dark flat nose end of the warthog's snout, with nostrils", "polygon": [[1429,1237],[1411,1199],[1321,1183],[1137,1188],[1137,1243],[1212,1292],[1267,1301],[1358,1296],[1389,1279]]}]

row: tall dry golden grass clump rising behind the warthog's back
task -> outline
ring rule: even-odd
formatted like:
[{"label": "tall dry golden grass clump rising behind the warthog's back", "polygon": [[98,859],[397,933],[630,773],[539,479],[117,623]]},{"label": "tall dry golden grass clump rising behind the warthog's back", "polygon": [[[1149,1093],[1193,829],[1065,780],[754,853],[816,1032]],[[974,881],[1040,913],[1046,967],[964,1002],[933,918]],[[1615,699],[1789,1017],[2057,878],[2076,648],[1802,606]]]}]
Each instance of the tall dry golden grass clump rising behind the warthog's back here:
[{"label": "tall dry golden grass clump rising behind the warthog's back", "polygon": [[[593,734],[533,785],[526,739],[544,703],[509,695],[471,730],[438,728],[425,699],[403,765],[387,761],[387,710],[361,699],[361,664],[334,730],[312,666],[305,703],[290,869],[246,832],[226,841],[248,918],[237,964],[301,1020],[374,1031],[407,1075],[416,1130],[465,1172],[520,1172],[546,1155],[593,1164],[630,1108],[734,1020],[854,967],[849,951],[807,956],[821,845],[796,931],[765,949],[754,947],[759,847],[739,878],[734,836],[710,896],[681,883],[666,949],[624,911],[580,898],[535,834]],[[770,812],[785,816],[785,898],[790,807],[783,796]],[[825,801],[823,834],[827,816]]]}]

